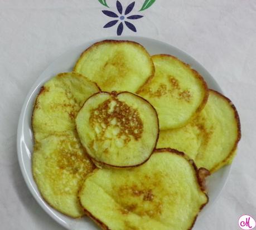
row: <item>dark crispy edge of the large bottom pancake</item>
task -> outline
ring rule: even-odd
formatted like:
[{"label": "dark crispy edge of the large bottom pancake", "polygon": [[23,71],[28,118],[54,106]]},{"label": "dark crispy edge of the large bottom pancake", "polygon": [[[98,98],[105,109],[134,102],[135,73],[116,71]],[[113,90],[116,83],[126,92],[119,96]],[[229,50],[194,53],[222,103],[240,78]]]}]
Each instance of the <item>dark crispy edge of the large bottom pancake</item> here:
[{"label": "dark crispy edge of the large bottom pancake", "polygon": [[[193,227],[194,227],[194,224],[196,222],[196,219],[198,217],[198,214],[202,211],[202,209],[206,206],[206,204],[209,202],[209,196],[207,195],[207,193],[205,192],[205,178],[207,176],[210,175],[210,172],[205,169],[205,168],[199,168],[197,169],[197,166],[195,164],[195,162],[189,158],[189,156],[187,156],[185,153],[183,152],[180,152],[180,151],[177,151],[176,149],[172,149],[172,148],[158,148],[158,149],[155,149],[154,150],[154,153],[153,154],[157,154],[157,153],[162,153],[162,152],[168,152],[168,153],[171,153],[171,154],[177,154],[179,156],[182,156],[184,157],[187,162],[190,163],[190,165],[194,168],[194,171],[195,171],[195,176],[197,178],[197,182],[199,184],[199,188],[200,190],[205,194],[206,198],[207,198],[207,201],[206,203],[202,204],[200,209],[199,209],[199,212],[196,214],[195,216],[195,219],[194,221],[192,222],[191,224],[191,227],[187,230],[191,230]],[[100,168],[95,168],[93,172],[89,173],[86,178],[90,177],[90,176],[93,176],[93,174],[100,170]],[[86,180],[85,178],[85,180]],[[81,193],[81,189],[83,188],[83,185],[81,186],[80,190],[78,191],[78,200],[81,204],[81,199],[80,199],[80,193]],[[81,207],[83,207],[83,205],[81,204]],[[101,229],[103,230],[110,230],[110,228],[108,228],[108,226],[106,224],[104,224],[102,221],[100,221],[98,218],[94,217],[93,214],[91,214],[86,208],[84,208],[84,212],[86,214],[86,216],[88,216],[94,223],[96,223]]]}]

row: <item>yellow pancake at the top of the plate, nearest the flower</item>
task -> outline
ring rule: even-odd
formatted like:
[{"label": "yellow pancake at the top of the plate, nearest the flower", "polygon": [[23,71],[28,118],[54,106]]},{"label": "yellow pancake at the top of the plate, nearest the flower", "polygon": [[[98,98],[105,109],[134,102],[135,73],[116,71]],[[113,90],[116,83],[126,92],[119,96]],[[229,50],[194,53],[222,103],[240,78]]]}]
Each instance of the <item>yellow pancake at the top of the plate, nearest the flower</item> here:
[{"label": "yellow pancake at the top of the plate, nearest the flower", "polygon": [[105,40],[86,49],[74,71],[96,82],[103,91],[135,93],[154,75],[154,65],[141,44]]}]

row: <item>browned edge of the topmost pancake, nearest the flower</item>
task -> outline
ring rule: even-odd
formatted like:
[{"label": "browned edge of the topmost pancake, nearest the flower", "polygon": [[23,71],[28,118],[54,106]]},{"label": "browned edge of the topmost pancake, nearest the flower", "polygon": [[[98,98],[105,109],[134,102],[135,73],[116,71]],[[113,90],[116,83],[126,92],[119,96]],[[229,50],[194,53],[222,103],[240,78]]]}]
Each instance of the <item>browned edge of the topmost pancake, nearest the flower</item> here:
[{"label": "browned edge of the topmost pancake, nearest the flower", "polygon": [[[146,84],[147,82],[150,82],[151,79],[154,77],[154,72],[155,72],[155,69],[154,69],[154,63],[153,63],[153,60],[151,58],[151,55],[148,53],[147,49],[144,48],[142,46],[142,44],[139,44],[138,42],[134,42],[134,41],[128,41],[128,40],[111,40],[111,39],[107,39],[107,40],[103,40],[103,41],[100,41],[100,42],[96,42],[94,44],[92,44],[91,46],[89,46],[88,48],[85,49],[85,51],[83,51],[81,54],[80,54],[80,57],[78,58],[78,61],[76,61],[75,63],[75,66],[73,68],[73,71],[76,72],[76,69],[78,67],[78,64],[80,63],[81,59],[83,59],[83,57],[85,56],[86,53],[88,53],[90,51],[90,49],[96,47],[96,46],[100,46],[102,44],[105,44],[105,43],[112,43],[112,44],[119,44],[119,43],[130,43],[130,44],[135,44],[136,46],[140,47],[143,49],[143,51],[148,55],[149,57],[149,60],[151,61],[151,68],[152,68],[152,71],[151,71],[151,74],[149,75],[149,77],[146,79],[146,81],[142,84],[142,86],[144,84]],[[141,87],[139,87],[141,88]],[[139,89],[138,89],[139,91]],[[138,92],[137,91],[137,92]],[[136,93],[137,93],[136,92]]]}]

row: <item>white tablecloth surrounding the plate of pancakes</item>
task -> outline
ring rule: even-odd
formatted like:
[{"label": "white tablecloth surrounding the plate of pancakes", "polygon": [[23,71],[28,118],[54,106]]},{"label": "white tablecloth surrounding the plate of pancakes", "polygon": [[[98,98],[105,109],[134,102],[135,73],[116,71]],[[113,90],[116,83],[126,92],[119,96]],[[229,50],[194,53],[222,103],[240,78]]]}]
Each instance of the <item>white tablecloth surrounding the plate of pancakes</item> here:
[{"label": "white tablecloth surrounding the plate of pancakes", "polygon": [[[119,0],[127,6],[132,0]],[[136,11],[144,1],[136,1]],[[115,0],[108,0],[114,9]],[[115,36],[117,26],[97,0],[0,1],[0,229],[64,229],[38,206],[18,166],[16,129],[23,100],[58,56],[91,39]],[[238,156],[202,229],[239,229],[238,218],[256,218],[256,1],[156,0],[134,20],[137,33],[191,54],[214,76],[241,120]],[[178,230],[178,229],[177,229]]]}]

